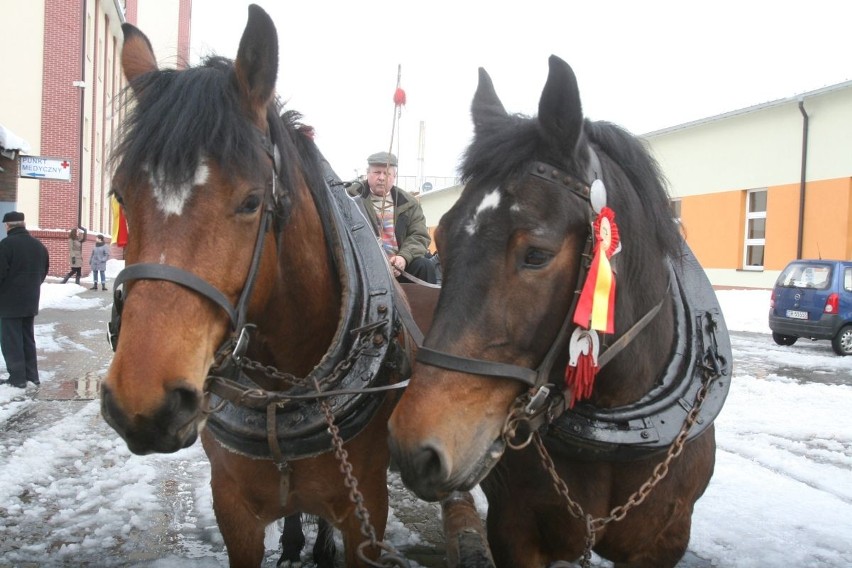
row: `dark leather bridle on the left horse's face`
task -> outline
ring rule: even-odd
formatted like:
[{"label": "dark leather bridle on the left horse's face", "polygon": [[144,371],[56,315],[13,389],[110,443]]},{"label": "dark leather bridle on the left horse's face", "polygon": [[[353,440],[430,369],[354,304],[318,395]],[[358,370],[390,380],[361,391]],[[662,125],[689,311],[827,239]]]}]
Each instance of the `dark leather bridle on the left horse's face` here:
[{"label": "dark leather bridle on the left horse's face", "polygon": [[231,324],[231,333],[217,349],[217,356],[223,351],[229,351],[234,358],[239,359],[245,352],[248,346],[249,332],[253,327],[252,324],[248,323],[248,304],[254,290],[255,282],[257,281],[258,272],[260,271],[260,260],[263,256],[266,232],[273,226],[274,216],[281,207],[281,195],[277,183],[280,175],[280,152],[278,151],[278,147],[266,135],[261,133],[260,130],[258,130],[258,137],[264,152],[272,160],[272,179],[267,185],[267,190],[264,192],[263,211],[261,212],[261,219],[257,229],[254,252],[252,253],[251,264],[246,275],[243,291],[236,305],[231,304],[224,293],[206,280],[182,268],[168,264],[132,264],[118,274],[113,285],[112,317],[108,325],[109,341],[113,351],[118,346],[118,335],[121,329],[121,312],[127,298],[123,284],[132,280],[165,280],[188,288],[200,296],[207,298],[222,308],[228,315]]}]

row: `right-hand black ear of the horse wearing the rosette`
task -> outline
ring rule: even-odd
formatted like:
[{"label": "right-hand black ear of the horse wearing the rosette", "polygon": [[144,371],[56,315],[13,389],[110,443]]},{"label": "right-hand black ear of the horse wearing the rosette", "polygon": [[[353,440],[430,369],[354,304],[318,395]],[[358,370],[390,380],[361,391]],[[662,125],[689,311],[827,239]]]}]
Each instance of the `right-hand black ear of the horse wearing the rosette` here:
[{"label": "right-hand black ear of the horse wearing the rosette", "polygon": [[583,126],[580,89],[571,67],[555,55],[538,102],[539,128],[560,156],[573,155]]}]

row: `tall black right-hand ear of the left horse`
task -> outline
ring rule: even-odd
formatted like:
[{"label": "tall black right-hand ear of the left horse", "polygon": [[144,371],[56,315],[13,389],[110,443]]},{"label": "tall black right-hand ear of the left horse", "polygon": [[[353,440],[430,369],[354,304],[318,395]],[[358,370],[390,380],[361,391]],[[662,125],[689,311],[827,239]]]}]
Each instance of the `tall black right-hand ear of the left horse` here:
[{"label": "tall black right-hand ear of the left horse", "polygon": [[249,19],[234,62],[236,80],[247,110],[258,125],[266,122],[266,106],[275,93],[278,76],[278,32],[263,9],[249,6]]}]

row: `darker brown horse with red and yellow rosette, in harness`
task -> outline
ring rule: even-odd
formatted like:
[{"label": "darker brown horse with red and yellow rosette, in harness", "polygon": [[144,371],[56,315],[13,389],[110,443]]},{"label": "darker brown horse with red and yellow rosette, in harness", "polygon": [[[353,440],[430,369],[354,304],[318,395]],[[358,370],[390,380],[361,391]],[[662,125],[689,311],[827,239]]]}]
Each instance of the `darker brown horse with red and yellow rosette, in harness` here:
[{"label": "darker brown horse with red and yellow rosette, in harness", "polygon": [[557,57],[537,117],[507,114],[484,70],[472,116],[438,307],[390,420],[403,481],[427,500],[481,481],[499,566],[592,549],[674,566],[713,474],[730,344],[658,167],[583,118]]}]

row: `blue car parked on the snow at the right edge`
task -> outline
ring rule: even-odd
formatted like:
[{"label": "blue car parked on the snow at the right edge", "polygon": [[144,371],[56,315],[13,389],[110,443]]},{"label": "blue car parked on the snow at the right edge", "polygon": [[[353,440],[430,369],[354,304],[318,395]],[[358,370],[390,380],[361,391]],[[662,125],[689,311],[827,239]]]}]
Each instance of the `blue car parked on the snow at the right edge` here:
[{"label": "blue car parked on the snow at the right edge", "polygon": [[835,353],[852,355],[852,262],[794,260],[775,282],[769,305],[778,345],[829,339]]}]

